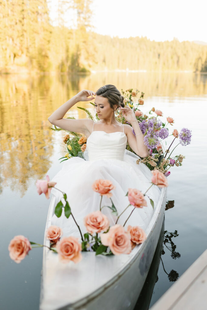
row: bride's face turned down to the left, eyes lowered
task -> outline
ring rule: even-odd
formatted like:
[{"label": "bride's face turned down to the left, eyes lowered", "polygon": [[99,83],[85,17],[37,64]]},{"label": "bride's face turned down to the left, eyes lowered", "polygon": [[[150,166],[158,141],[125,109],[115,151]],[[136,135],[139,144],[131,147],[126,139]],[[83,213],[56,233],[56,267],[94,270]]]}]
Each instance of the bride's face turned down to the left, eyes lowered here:
[{"label": "bride's face turned down to the left, eyes lowered", "polygon": [[[114,114],[114,110],[110,107],[107,98],[96,96],[94,104],[99,119],[111,117],[111,114]],[[115,105],[115,108],[116,107]]]}]

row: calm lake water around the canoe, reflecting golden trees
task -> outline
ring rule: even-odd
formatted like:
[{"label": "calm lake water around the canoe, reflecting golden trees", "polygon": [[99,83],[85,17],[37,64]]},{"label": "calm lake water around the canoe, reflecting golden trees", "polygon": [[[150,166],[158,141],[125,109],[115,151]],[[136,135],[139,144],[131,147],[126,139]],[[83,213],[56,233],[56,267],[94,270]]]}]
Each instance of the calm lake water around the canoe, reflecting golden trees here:
[{"label": "calm lake water around the canoe, reflecting golden trees", "polygon": [[[2,309],[37,310],[39,306],[42,249],[30,251],[25,260],[16,264],[7,248],[10,240],[20,234],[30,241],[43,242],[50,200],[37,194],[35,183],[45,179],[46,174],[52,179],[61,169],[58,159],[65,155],[65,131],[51,130],[53,125],[47,118],[80,90],[96,91],[105,84],[114,84],[119,90],[138,88],[145,93],[141,107],[144,113],[155,107],[164,113],[160,117],[163,121],[168,116],[175,120],[169,130],[192,130],[191,144],[178,145],[174,151],[175,155],[186,156],[183,165],[172,167],[168,177],[167,199],[174,201],[174,207],[165,211],[164,230],[177,230],[178,236],[172,241],[180,258],[173,259],[169,243],[165,243],[150,306],[174,283],[169,281],[169,272],[174,270],[181,276],[207,248],[207,75],[109,72],[81,77],[0,76]],[[87,117],[77,106],[89,108],[94,115],[92,105],[82,102],[65,117]],[[171,141],[172,136],[167,145]]]}]

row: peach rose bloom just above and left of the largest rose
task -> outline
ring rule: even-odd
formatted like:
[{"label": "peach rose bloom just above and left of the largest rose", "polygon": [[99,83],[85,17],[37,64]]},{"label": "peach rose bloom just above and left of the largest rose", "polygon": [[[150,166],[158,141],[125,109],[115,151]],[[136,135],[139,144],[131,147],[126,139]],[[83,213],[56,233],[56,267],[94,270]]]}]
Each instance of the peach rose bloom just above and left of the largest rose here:
[{"label": "peach rose bloom just above and left of the largest rose", "polygon": [[94,232],[107,231],[109,228],[109,220],[101,211],[91,212],[83,219],[83,223],[87,231],[92,235]]}]

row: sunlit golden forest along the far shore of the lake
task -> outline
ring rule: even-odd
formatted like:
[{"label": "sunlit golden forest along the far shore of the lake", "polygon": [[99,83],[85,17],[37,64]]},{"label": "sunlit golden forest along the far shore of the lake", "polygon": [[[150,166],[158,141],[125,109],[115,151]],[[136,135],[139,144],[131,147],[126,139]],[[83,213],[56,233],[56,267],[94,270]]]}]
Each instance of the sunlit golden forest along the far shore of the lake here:
[{"label": "sunlit golden forest along the far shore of the lake", "polygon": [[[0,73],[207,72],[207,45],[95,33],[92,1],[57,0],[54,25],[47,0],[0,0]],[[69,9],[75,12],[72,28],[65,22]]]}]

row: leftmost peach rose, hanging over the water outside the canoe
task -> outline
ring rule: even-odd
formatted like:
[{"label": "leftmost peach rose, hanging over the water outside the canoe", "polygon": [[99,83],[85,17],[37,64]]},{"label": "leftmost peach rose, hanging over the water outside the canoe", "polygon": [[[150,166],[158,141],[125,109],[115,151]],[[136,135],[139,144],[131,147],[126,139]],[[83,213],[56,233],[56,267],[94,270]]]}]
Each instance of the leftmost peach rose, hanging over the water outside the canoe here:
[{"label": "leftmost peach rose, hanging over the water outside the canoe", "polygon": [[15,236],[8,246],[9,256],[16,263],[20,263],[22,259],[32,250],[29,240],[22,235]]}]

